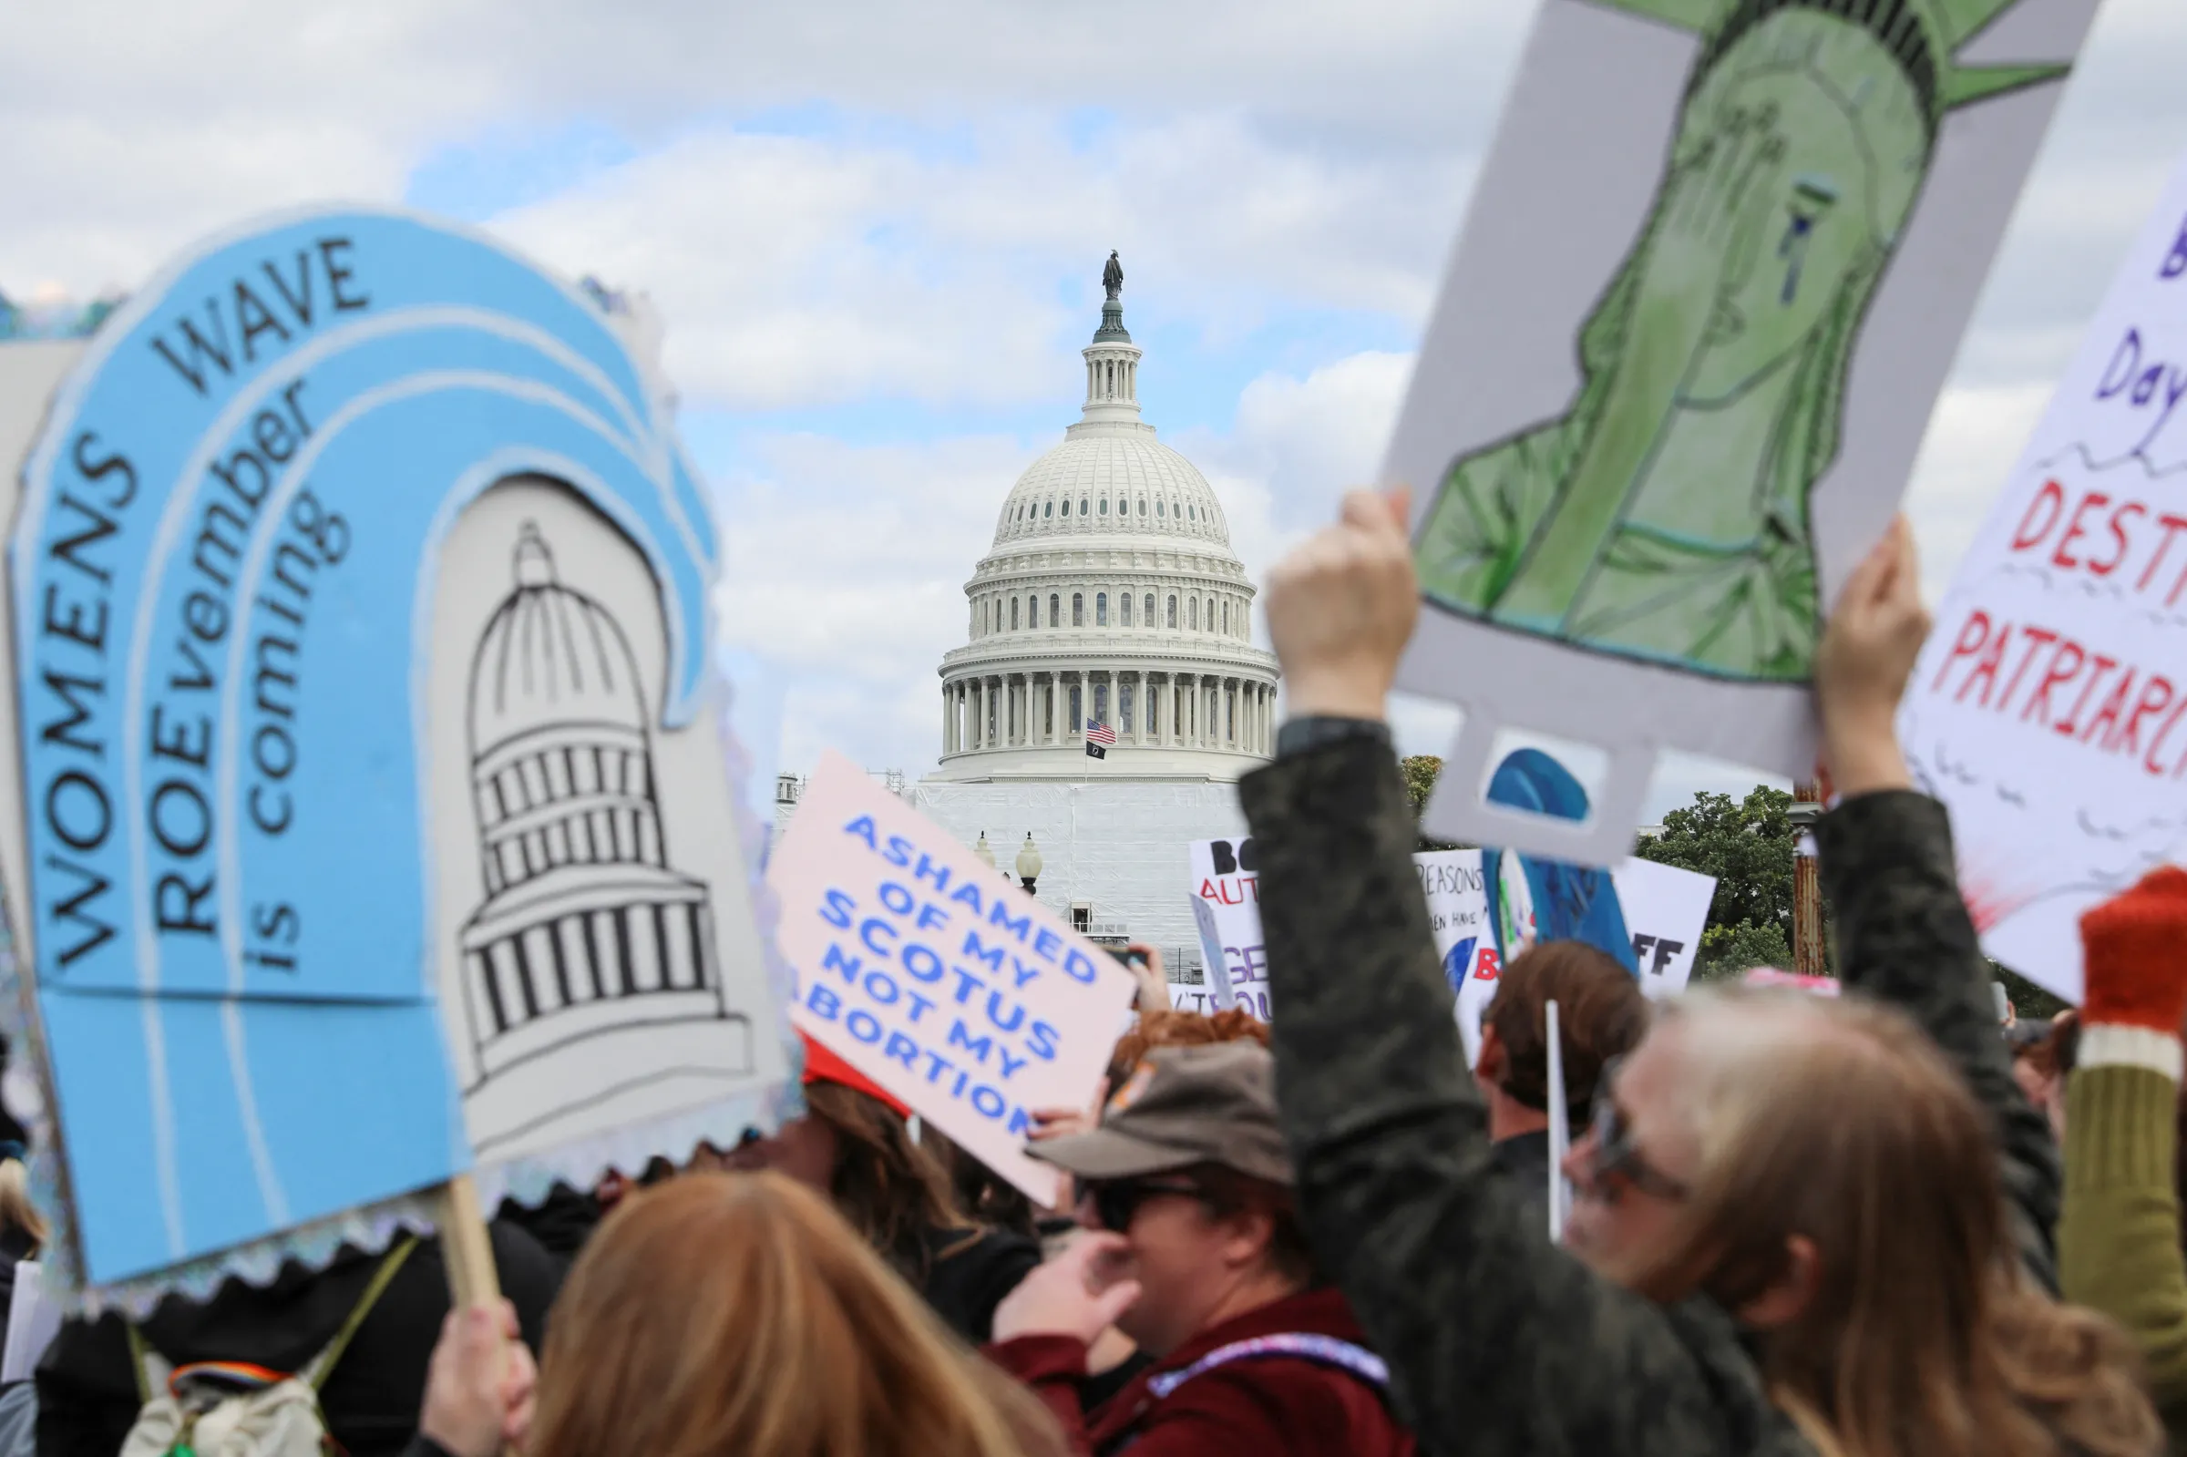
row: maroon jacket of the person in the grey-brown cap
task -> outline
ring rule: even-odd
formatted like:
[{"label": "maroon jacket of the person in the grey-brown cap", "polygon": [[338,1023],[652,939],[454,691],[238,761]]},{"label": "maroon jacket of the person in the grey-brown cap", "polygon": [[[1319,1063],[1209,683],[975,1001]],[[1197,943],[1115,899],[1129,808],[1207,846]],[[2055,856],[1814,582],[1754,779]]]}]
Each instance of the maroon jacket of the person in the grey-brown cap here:
[{"label": "maroon jacket of the person in the grey-brown cap", "polygon": [[[1345,1297],[1303,1291],[1209,1326],[1139,1372],[1096,1411],[1080,1411],[1078,1380],[1087,1348],[1072,1337],[1017,1337],[989,1345],[989,1359],[1030,1385],[1063,1422],[1072,1450],[1131,1457],[1413,1457],[1413,1435],[1397,1426],[1384,1387],[1338,1365],[1299,1354],[1253,1354],[1209,1365],[1170,1385],[1166,1376],[1253,1337],[1308,1334],[1365,1345]],[[1168,1387],[1168,1396],[1157,1396]]]}]

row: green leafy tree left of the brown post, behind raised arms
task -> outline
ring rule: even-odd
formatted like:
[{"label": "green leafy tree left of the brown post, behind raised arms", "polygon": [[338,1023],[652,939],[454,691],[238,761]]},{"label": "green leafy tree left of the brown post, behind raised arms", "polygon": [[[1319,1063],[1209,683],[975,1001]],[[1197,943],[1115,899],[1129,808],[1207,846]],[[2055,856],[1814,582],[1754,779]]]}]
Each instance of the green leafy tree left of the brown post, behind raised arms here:
[{"label": "green leafy tree left of the brown post, behind raised arms", "polygon": [[[1791,794],[1765,783],[1747,796],[1701,792],[1662,816],[1662,834],[1634,849],[1642,860],[1717,877],[1701,934],[1699,976],[1791,965]],[[1734,965],[1736,963],[1736,965]]]}]

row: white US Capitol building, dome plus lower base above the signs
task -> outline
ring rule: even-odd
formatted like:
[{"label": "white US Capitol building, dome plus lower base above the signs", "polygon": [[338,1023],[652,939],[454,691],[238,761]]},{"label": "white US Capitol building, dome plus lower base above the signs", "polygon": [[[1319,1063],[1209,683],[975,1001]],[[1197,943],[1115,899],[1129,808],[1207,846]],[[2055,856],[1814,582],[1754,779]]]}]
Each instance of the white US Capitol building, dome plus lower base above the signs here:
[{"label": "white US Capitol building, dome plus lower base above the signs", "polygon": [[[1185,844],[1244,836],[1236,781],[1275,748],[1277,669],[1216,492],[1139,418],[1113,254],[1102,282],[1085,407],[1017,477],[964,584],[940,768],[908,794],[999,871],[1034,851],[1034,893],[1089,934],[1192,965]],[[1104,759],[1087,724],[1115,731]]]}]

